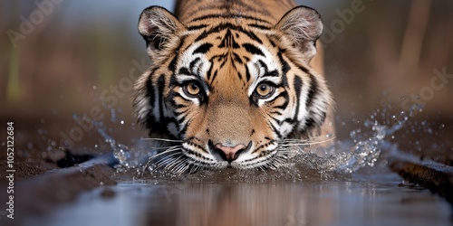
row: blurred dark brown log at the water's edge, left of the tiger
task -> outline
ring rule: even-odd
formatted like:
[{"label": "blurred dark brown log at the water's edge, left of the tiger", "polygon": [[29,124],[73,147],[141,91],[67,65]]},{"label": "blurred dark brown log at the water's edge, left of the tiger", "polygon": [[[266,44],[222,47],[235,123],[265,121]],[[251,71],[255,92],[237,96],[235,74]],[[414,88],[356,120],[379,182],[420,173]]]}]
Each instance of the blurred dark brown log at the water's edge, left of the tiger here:
[{"label": "blurred dark brown log at the water's edge, left of the tiger", "polygon": [[[72,202],[82,192],[101,185],[117,184],[111,179],[114,174],[111,166],[115,164],[117,160],[113,155],[101,155],[80,165],[51,170],[34,178],[18,181],[14,188],[14,194],[17,194],[14,200],[17,213],[28,215],[49,212],[58,204]],[[4,190],[2,185],[0,188]],[[1,202],[3,199],[0,196]]]}]

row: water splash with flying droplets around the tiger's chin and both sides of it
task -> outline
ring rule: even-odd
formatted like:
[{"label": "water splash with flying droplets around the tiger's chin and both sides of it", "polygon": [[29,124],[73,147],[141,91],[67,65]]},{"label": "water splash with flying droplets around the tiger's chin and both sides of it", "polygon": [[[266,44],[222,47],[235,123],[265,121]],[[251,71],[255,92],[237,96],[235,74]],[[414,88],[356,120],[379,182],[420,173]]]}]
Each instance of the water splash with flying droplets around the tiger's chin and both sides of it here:
[{"label": "water splash with flying droplets around the tiger's chin and both sides of it", "polygon": [[[307,150],[300,147],[295,151],[295,155],[288,165],[282,167],[276,172],[256,173],[256,171],[237,171],[231,173],[231,169],[204,171],[198,173],[199,178],[216,177],[222,175],[232,180],[264,180],[263,178],[282,178],[288,180],[301,180],[307,177],[329,178],[333,174],[351,174],[365,166],[373,166],[381,156],[381,150],[384,147],[391,145],[388,141],[393,138],[396,131],[406,124],[414,112],[420,112],[423,106],[413,105],[409,111],[401,111],[400,114],[390,115],[388,109],[391,107],[383,105],[382,108],[376,109],[371,113],[370,117],[363,122],[359,119],[352,118],[354,125],[361,127],[350,132],[351,140],[338,140],[335,142],[332,151],[325,153],[333,153],[331,155],[321,155],[319,150]],[[111,121],[120,125],[124,125],[124,120],[118,119],[117,110],[111,110]],[[377,118],[384,118],[383,124],[378,122]],[[111,146],[113,155],[119,160],[120,165],[117,169],[119,172],[133,171],[138,174],[143,174],[148,171],[154,177],[180,177],[180,175],[169,174],[168,172],[154,172],[152,165],[147,164],[150,156],[157,155],[162,146],[171,146],[170,143],[157,140],[138,139],[133,146],[129,148],[120,144],[114,137],[111,137],[107,132],[107,128],[102,122],[93,121],[92,125],[97,128],[97,132],[104,138],[104,141]],[[131,124],[135,128],[135,124]],[[227,173],[225,173],[227,172]],[[251,173],[252,172],[252,173]],[[258,176],[260,175],[260,176]],[[271,176],[272,175],[272,176]],[[313,176],[314,175],[314,176]],[[186,175],[188,176],[188,175]],[[197,179],[198,180],[198,179]]]}]

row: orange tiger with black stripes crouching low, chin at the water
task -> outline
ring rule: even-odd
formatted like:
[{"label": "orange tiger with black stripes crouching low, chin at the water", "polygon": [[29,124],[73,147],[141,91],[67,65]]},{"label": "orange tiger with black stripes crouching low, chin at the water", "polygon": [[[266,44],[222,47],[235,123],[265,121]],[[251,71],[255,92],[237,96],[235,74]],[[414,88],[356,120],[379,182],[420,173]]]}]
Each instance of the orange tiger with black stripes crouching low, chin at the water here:
[{"label": "orange tiger with black stripes crouching low, chin at the water", "polygon": [[138,24],[152,63],[134,85],[134,116],[149,137],[179,142],[159,166],[275,169],[297,155],[291,146],[333,137],[316,10],[186,0],[174,12],[149,6]]}]

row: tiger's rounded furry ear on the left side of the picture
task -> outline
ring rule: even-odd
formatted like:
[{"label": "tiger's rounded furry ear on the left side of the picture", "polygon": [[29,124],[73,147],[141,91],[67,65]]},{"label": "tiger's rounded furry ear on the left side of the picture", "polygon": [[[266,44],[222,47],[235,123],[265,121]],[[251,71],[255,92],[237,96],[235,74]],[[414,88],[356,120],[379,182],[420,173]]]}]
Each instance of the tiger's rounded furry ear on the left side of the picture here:
[{"label": "tiger's rounded furry ear on the left side of the picture", "polygon": [[175,35],[184,29],[175,15],[160,6],[149,6],[140,14],[139,32],[147,43],[151,59],[165,50]]}]

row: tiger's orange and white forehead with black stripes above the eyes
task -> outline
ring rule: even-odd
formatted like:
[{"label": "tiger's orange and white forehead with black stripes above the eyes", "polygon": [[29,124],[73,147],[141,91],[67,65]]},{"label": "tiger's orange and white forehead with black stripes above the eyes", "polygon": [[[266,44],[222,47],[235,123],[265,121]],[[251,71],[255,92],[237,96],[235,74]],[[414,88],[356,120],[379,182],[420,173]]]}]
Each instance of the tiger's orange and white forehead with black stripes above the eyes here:
[{"label": "tiger's orange and white forehead with black stripes above the eyes", "polygon": [[178,80],[198,78],[213,84],[218,79],[219,71],[224,71],[222,77],[227,74],[227,79],[231,80],[234,76],[248,86],[249,95],[261,81],[260,78],[279,82],[277,59],[272,50],[267,49],[275,46],[264,33],[259,33],[259,29],[256,32],[255,27],[246,30],[234,24],[217,24],[191,36],[188,40],[195,42],[185,44],[178,61],[179,71],[184,69],[189,74],[179,73]]}]

